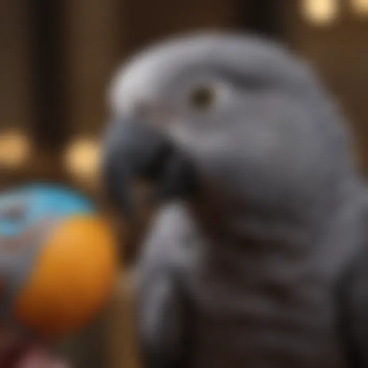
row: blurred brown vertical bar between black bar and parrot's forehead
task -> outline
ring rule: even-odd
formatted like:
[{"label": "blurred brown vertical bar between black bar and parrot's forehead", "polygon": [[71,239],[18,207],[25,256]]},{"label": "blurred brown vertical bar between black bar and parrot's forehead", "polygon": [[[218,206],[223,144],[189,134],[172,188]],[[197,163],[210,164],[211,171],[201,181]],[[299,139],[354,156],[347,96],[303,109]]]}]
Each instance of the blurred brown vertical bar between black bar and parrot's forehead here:
[{"label": "blurred brown vertical bar between black bar and parrot's forehead", "polygon": [[72,134],[95,135],[105,124],[107,83],[118,62],[121,1],[67,0],[65,4]]}]

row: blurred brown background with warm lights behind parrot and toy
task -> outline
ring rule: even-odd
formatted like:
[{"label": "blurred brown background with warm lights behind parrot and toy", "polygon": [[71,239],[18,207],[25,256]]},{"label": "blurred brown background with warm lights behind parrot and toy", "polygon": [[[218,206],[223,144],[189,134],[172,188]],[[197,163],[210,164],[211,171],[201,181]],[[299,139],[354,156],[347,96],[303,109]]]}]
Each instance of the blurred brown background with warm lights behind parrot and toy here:
[{"label": "blurred brown background with warm lights behind parrot and toy", "polygon": [[[368,0],[0,0],[0,187],[47,180],[104,202],[105,93],[124,57],[187,30],[252,30],[307,58],[340,101],[368,172]],[[65,342],[76,368],[134,367],[129,285]]]}]

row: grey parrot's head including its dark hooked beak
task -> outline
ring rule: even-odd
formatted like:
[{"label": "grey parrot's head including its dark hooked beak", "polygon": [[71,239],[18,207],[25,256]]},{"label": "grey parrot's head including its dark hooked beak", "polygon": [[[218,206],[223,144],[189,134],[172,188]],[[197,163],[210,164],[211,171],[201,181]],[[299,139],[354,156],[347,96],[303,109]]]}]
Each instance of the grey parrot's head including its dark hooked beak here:
[{"label": "grey parrot's head including its dark hooked beak", "polygon": [[284,215],[334,205],[354,181],[349,135],[306,64],[282,45],[191,34],[133,55],[109,91],[103,172],[134,212],[134,180],[159,202],[224,193]]}]

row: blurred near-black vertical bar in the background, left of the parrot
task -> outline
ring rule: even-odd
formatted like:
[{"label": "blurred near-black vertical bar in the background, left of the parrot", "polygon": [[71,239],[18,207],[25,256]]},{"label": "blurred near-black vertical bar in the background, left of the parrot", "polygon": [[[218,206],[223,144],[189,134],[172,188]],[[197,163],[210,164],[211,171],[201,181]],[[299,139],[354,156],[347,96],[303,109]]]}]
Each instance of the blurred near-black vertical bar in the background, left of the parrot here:
[{"label": "blurred near-black vertical bar in the background, left of the parrot", "polygon": [[33,136],[43,154],[58,154],[68,137],[65,99],[64,2],[30,0],[35,119]]}]

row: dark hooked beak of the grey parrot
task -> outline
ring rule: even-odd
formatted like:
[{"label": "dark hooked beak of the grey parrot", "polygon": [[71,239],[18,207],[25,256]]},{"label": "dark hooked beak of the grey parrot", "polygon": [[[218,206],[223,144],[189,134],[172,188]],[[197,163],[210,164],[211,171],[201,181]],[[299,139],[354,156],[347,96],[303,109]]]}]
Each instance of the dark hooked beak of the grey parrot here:
[{"label": "dark hooked beak of the grey parrot", "polygon": [[137,118],[110,125],[105,153],[102,172],[108,195],[130,220],[136,220],[137,181],[153,185],[149,199],[155,203],[188,199],[198,189],[191,159],[168,136]]}]

